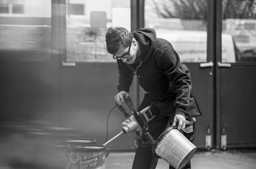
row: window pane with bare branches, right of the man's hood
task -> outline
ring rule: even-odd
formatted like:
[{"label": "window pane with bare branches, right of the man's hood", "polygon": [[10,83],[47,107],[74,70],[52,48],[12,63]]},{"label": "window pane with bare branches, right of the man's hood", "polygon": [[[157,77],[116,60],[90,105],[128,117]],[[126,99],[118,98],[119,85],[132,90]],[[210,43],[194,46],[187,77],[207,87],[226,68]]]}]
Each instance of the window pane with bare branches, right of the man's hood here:
[{"label": "window pane with bare branches, right of the man's hood", "polygon": [[207,60],[207,0],[145,0],[145,27],[168,40],[182,62]]}]

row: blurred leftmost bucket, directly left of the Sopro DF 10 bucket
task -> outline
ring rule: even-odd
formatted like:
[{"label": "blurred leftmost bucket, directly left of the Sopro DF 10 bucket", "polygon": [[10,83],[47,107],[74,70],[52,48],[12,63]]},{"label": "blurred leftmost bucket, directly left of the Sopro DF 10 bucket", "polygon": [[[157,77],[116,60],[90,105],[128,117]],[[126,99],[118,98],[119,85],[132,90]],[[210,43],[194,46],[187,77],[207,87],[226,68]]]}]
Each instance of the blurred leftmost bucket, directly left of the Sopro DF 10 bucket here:
[{"label": "blurred leftmost bucket, directly left of the Sopro DF 10 bucket", "polygon": [[66,143],[52,143],[50,145],[53,168],[68,169],[68,146],[69,144]]}]

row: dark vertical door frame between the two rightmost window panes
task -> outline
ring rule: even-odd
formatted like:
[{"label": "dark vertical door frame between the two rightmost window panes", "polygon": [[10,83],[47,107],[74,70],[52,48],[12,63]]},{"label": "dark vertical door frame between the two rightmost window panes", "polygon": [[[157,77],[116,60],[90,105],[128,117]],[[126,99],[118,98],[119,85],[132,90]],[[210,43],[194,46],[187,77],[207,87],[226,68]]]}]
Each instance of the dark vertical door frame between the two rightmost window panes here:
[{"label": "dark vertical door frame between the two rightmost window panes", "polygon": [[220,106],[220,69],[217,66],[222,59],[222,0],[207,1],[207,61],[213,60],[213,148],[221,145],[221,106]]}]

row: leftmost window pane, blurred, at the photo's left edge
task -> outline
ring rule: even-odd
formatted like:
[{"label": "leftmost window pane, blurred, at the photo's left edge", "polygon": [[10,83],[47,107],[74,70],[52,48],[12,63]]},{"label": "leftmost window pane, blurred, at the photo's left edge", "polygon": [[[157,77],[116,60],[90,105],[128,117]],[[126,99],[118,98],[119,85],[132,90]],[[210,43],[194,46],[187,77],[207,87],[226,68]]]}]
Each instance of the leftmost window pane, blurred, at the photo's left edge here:
[{"label": "leftmost window pane, blurred, at the photo's left edge", "polygon": [[51,0],[15,2],[0,13],[0,60],[51,61]]}]

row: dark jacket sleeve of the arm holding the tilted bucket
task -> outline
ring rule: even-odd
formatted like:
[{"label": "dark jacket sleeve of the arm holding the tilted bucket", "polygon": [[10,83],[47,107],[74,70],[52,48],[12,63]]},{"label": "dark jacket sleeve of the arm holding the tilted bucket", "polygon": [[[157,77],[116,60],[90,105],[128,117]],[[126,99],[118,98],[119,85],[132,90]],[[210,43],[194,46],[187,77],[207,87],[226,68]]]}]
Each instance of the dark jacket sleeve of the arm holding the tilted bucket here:
[{"label": "dark jacket sleeve of the arm holding the tilted bucket", "polygon": [[175,114],[185,116],[191,91],[190,72],[171,45],[166,46],[157,57],[157,65],[176,86]]}]

